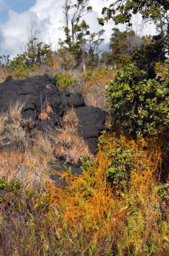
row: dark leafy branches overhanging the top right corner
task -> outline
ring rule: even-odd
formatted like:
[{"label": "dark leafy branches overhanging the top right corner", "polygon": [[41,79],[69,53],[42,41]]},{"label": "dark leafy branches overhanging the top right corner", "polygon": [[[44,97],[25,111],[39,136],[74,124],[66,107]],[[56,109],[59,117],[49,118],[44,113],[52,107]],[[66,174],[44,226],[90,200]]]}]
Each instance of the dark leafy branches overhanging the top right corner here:
[{"label": "dark leafy branches overhanging the top right corner", "polygon": [[166,53],[169,51],[168,36],[169,36],[169,1],[168,0],[117,0],[111,3],[109,7],[104,7],[102,10],[103,18],[99,18],[99,23],[104,24],[105,21],[111,18],[115,24],[125,24],[131,26],[132,14],[140,13],[143,22],[154,22],[160,34],[162,34]]}]

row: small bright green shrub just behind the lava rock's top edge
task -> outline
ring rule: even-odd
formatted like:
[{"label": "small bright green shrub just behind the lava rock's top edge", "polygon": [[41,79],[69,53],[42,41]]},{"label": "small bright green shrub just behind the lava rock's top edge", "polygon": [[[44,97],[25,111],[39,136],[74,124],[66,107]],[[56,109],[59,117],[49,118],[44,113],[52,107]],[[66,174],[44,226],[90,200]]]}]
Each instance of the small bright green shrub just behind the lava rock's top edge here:
[{"label": "small bright green shrub just behind the lava rock's top edge", "polygon": [[71,84],[76,84],[77,80],[68,73],[56,73],[56,84],[60,90],[66,90]]}]

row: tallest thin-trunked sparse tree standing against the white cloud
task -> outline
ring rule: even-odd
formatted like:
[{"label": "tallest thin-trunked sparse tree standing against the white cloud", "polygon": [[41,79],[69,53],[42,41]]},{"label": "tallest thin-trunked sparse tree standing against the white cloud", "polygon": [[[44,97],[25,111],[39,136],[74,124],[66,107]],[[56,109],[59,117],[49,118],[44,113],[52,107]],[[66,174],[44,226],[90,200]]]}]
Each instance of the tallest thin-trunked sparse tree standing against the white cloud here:
[{"label": "tallest thin-trunked sparse tree standing against the white cloud", "polygon": [[[84,16],[91,12],[92,7],[88,6],[89,0],[66,0],[63,6],[64,13],[64,32],[66,40],[62,42],[61,51],[69,50],[76,58],[77,66],[86,69],[85,63],[85,44],[86,36],[90,34],[89,25],[83,20]],[[60,44],[60,45],[61,45]]]}]

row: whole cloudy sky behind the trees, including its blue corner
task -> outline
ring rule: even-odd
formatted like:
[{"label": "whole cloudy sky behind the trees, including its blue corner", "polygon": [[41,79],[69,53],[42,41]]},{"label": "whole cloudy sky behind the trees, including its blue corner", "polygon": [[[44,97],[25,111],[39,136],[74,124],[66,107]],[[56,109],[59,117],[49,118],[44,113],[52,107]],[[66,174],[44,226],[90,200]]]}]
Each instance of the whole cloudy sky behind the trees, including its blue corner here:
[{"label": "whole cloudy sky behind the trees, including its blue corner", "polygon": [[[93,32],[99,31],[103,27],[99,26],[97,17],[101,16],[102,7],[112,3],[112,0],[89,2],[93,12],[86,20]],[[43,42],[52,42],[53,49],[57,49],[58,38],[64,38],[64,32],[60,29],[63,26],[63,3],[64,0],[0,0],[0,55],[15,57],[23,51],[24,43],[27,42],[27,31],[30,30],[32,22],[37,24],[38,38]],[[137,17],[133,22],[133,29],[137,30],[138,34],[154,34],[153,26],[149,25],[141,30],[138,23]],[[104,26],[105,45],[109,42],[113,27],[113,22]],[[125,26],[120,26],[120,29],[125,30]]]}]

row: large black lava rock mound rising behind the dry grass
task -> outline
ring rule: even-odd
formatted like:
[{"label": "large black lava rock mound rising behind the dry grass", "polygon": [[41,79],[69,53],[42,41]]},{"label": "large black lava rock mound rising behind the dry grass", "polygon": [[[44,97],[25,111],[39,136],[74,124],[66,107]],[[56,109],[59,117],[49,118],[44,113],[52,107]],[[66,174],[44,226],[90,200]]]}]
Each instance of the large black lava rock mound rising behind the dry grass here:
[{"label": "large black lava rock mound rising behind the dry grass", "polygon": [[[36,128],[52,130],[62,127],[62,119],[66,108],[74,107],[80,123],[79,135],[87,139],[92,153],[97,151],[97,137],[105,127],[105,113],[97,107],[86,106],[84,99],[68,91],[60,91],[56,86],[56,79],[49,75],[36,75],[23,80],[14,80],[7,77],[0,84],[0,113],[9,109],[10,104],[23,104],[22,117],[32,119]],[[40,121],[40,113],[50,104],[53,113],[50,119]]]}]

